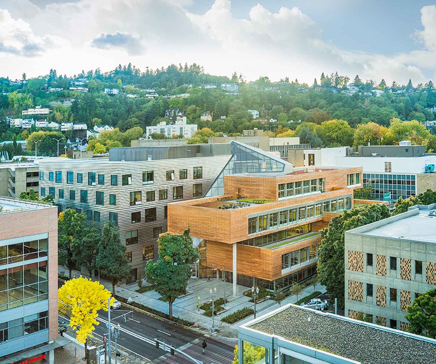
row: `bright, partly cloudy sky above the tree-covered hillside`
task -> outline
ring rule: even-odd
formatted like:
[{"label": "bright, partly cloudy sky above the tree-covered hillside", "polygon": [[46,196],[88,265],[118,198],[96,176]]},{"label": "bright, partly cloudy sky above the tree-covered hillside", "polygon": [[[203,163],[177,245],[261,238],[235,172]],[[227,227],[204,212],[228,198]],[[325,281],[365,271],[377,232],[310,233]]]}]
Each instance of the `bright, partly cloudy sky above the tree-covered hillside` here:
[{"label": "bright, partly cloudy sky above the tree-covered hillside", "polygon": [[1,0],[0,77],[131,62],[209,74],[436,81],[436,5],[420,0]]}]

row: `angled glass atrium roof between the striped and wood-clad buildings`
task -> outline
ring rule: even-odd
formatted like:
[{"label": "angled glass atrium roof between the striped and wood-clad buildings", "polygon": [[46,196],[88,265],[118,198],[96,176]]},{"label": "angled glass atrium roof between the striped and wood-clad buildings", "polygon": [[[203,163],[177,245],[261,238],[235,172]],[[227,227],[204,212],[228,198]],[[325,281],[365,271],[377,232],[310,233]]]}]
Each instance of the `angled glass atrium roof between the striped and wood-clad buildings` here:
[{"label": "angled glass atrium roof between the striped and wood-clad buildings", "polygon": [[292,169],[288,162],[276,158],[259,148],[254,148],[234,140],[232,145],[232,157],[228,160],[221,173],[211,184],[203,197],[224,195],[224,176],[238,173],[261,173],[261,172],[287,172]]}]

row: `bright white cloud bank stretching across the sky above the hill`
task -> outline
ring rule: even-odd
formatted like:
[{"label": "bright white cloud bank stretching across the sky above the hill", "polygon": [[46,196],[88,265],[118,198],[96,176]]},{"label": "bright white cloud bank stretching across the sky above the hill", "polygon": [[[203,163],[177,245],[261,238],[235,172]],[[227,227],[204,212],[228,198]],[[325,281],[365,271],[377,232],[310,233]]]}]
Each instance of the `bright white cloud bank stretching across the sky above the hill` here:
[{"label": "bright white cloud bank stretching across the sky above the hill", "polygon": [[[232,15],[230,0],[215,0],[202,15],[186,10],[193,0],[78,0],[34,11],[23,10],[28,0],[3,1],[17,14],[15,18],[23,19],[16,21],[31,27],[34,44],[48,44],[54,36],[57,43],[62,39],[71,43],[68,51],[48,50],[50,66],[35,61],[35,74],[49,67],[57,68],[58,74],[74,74],[82,68],[109,70],[128,62],[142,69],[196,62],[211,74],[237,71],[248,79],[288,76],[312,83],[323,71],[338,71],[350,78],[359,74],[363,80],[406,83],[412,78],[416,84],[426,81],[422,68],[436,70],[436,6],[422,8],[424,30],[414,35],[425,49],[386,56],[335,47],[334,40],[323,38],[320,25],[296,7],[274,13],[257,4],[248,19],[238,19]],[[7,63],[10,76],[21,74],[18,68],[23,64],[27,74],[33,73],[20,57],[0,61]]]}]

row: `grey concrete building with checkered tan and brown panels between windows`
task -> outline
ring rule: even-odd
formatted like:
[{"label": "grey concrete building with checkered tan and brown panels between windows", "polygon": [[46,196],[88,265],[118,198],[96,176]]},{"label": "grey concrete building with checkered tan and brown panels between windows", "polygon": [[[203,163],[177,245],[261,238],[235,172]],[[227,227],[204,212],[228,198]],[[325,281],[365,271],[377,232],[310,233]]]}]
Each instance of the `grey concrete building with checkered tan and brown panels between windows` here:
[{"label": "grey concrete building with checkered tan and brown panels between windows", "polygon": [[436,288],[435,204],[345,233],[345,315],[406,330],[407,306]]}]

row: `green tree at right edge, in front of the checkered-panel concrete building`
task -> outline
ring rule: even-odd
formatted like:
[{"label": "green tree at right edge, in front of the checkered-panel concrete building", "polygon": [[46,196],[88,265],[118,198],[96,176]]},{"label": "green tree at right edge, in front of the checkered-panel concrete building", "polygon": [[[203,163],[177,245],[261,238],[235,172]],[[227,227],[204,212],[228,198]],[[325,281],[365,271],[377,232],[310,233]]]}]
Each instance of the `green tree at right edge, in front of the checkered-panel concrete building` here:
[{"label": "green tree at right edge, in front of the checkered-panel concrete building", "polygon": [[[436,338],[436,289],[421,294],[411,306],[407,306],[405,318],[412,334]],[[422,334],[427,331],[428,335]]]}]

